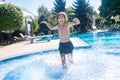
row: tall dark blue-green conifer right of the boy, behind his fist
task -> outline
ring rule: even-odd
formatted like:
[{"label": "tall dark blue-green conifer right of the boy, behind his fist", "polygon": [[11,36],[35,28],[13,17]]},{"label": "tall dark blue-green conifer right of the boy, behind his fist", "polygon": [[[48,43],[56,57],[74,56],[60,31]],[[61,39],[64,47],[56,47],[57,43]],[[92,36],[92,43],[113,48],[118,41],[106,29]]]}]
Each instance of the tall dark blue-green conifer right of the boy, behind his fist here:
[{"label": "tall dark blue-green conifer right of the boy, behind his fist", "polygon": [[86,32],[92,28],[92,14],[93,9],[89,1],[76,0],[73,4],[75,16],[79,18],[80,25],[75,27],[78,32]]}]

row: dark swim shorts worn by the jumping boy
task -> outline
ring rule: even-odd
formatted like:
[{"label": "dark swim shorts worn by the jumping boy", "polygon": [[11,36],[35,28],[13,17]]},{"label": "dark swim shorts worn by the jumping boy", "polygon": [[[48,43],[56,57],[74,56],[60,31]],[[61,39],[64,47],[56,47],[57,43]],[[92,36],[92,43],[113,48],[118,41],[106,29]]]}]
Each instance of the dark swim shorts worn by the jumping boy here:
[{"label": "dark swim shorts worn by the jumping boy", "polygon": [[60,42],[59,43],[59,51],[60,53],[68,54],[73,52],[73,44],[71,41],[69,42]]}]

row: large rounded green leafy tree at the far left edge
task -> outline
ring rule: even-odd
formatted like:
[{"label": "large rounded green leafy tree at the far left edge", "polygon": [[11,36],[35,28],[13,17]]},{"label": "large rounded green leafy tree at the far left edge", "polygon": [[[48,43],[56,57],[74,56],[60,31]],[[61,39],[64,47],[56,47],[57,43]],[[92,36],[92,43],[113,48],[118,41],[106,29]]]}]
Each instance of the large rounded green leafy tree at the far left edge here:
[{"label": "large rounded green leafy tree at the far left edge", "polygon": [[0,31],[19,30],[24,25],[24,17],[20,8],[12,4],[0,5]]}]

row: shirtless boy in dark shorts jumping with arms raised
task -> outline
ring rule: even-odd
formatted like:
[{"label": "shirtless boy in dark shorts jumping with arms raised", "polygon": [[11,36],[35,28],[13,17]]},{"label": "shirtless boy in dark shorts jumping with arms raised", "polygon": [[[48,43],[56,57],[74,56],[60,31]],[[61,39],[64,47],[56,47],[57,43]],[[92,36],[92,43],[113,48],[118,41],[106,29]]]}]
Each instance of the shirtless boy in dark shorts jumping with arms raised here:
[{"label": "shirtless boy in dark shorts jumping with arms raised", "polygon": [[44,23],[48,26],[49,29],[55,30],[58,29],[60,43],[59,43],[59,51],[62,61],[62,67],[66,68],[66,58],[65,55],[70,53],[69,62],[73,63],[72,61],[72,52],[73,52],[73,44],[70,41],[70,27],[74,25],[80,24],[79,19],[74,18],[73,22],[68,22],[68,17],[66,13],[59,12],[56,16],[56,20],[58,21],[58,24],[55,27],[52,27],[50,24],[48,24],[46,21],[42,21],[41,23]]}]

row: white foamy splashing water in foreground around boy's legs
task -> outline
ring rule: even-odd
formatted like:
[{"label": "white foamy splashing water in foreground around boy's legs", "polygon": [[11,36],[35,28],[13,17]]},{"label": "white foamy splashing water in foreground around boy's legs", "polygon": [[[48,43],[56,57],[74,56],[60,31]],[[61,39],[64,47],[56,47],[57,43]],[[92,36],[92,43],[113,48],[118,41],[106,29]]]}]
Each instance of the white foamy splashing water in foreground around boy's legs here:
[{"label": "white foamy splashing water in foreground around boy's legs", "polygon": [[58,51],[3,61],[2,80],[119,80],[120,56],[94,53],[93,49],[74,50],[74,63],[61,68]]}]

